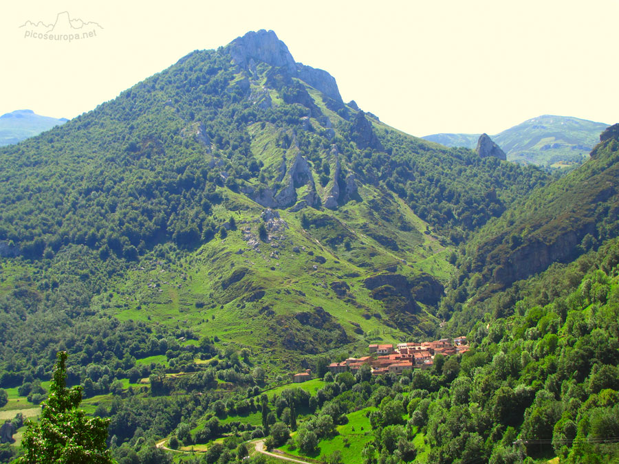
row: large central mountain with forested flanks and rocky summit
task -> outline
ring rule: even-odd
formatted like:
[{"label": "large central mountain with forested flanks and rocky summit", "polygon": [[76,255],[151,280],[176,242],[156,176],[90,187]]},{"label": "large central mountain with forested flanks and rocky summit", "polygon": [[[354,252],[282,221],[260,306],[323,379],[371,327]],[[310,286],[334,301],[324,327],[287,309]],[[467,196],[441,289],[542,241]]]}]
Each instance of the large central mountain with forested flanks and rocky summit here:
[{"label": "large central mountain with forested flanks and rocky summit", "polygon": [[[3,148],[0,166],[2,294],[22,315],[3,322],[10,372],[37,318],[180,319],[298,353],[428,333],[453,245],[546,180],[347,107],[265,31]],[[43,337],[47,356],[63,343]]]}]

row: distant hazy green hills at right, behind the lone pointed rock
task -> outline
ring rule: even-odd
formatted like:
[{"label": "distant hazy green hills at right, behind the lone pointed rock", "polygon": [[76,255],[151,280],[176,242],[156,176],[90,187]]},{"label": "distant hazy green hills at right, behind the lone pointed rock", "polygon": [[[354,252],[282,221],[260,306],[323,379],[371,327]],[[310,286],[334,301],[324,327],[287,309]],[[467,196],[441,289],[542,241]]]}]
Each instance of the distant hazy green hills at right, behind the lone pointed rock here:
[{"label": "distant hazy green hills at right, behind the lone pointed rock", "polygon": [[[601,122],[542,115],[491,137],[512,162],[566,168],[584,162],[607,127]],[[479,134],[442,133],[423,138],[445,146],[475,148]]]}]

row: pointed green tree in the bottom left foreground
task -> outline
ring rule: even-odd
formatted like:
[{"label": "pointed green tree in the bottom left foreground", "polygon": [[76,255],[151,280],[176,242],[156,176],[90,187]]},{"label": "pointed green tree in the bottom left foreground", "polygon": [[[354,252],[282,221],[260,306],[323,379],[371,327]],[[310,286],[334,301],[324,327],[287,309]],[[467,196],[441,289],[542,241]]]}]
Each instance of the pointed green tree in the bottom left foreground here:
[{"label": "pointed green tree in the bottom left foreground", "polygon": [[66,388],[67,352],[59,351],[50,397],[44,402],[41,422],[28,421],[23,434],[23,456],[17,464],[116,464],[106,448],[108,419],[89,418],[78,409],[82,388]]}]

